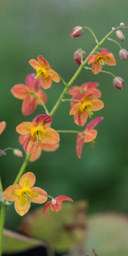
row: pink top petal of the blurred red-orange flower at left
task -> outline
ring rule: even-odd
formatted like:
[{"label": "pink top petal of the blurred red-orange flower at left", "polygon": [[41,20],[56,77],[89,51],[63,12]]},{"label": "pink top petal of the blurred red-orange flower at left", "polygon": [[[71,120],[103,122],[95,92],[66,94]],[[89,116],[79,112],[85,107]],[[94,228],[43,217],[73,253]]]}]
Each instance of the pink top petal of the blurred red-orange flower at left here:
[{"label": "pink top petal of the blurred red-orange flower at left", "polygon": [[35,73],[29,74],[26,76],[26,85],[29,88],[29,90],[32,91],[38,91],[40,89],[40,83],[39,80],[35,81]]}]

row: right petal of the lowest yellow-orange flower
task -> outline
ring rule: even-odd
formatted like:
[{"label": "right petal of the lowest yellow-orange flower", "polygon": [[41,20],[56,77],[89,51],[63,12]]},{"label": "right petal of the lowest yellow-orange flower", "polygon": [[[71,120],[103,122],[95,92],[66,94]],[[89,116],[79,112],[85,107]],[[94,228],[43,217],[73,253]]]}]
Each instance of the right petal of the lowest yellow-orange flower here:
[{"label": "right petal of the lowest yellow-orange flower", "polygon": [[32,203],[43,204],[47,201],[47,192],[44,189],[33,187],[32,189]]}]

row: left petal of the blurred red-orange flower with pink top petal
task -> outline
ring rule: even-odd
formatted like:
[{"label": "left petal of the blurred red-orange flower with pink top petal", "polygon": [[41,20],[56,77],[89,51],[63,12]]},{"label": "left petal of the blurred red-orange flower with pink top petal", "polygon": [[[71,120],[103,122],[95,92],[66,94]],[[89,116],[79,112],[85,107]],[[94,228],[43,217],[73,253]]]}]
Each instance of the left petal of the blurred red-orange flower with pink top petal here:
[{"label": "left petal of the blurred red-orange flower with pink top petal", "polygon": [[28,89],[24,84],[16,84],[12,87],[11,93],[17,99],[25,99],[28,95]]}]

